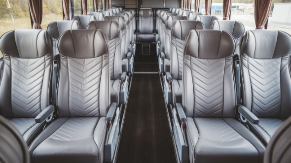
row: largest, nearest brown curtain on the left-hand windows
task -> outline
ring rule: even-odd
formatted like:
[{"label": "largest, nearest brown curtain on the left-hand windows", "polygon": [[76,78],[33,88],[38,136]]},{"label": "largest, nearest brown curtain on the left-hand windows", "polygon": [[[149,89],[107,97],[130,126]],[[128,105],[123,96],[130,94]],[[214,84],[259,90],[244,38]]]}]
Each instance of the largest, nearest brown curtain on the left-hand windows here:
[{"label": "largest, nearest brown curtain on the left-hand windows", "polygon": [[41,29],[42,0],[29,0],[29,9],[34,21],[33,29]]}]

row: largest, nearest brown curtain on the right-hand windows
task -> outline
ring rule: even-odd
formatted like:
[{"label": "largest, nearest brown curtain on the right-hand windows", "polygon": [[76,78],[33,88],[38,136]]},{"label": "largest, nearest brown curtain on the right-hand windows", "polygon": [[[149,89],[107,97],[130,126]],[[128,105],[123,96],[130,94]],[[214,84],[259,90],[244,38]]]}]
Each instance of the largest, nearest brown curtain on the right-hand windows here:
[{"label": "largest, nearest brown curtain on the right-hand windows", "polygon": [[272,0],[255,0],[255,29],[264,29]]}]

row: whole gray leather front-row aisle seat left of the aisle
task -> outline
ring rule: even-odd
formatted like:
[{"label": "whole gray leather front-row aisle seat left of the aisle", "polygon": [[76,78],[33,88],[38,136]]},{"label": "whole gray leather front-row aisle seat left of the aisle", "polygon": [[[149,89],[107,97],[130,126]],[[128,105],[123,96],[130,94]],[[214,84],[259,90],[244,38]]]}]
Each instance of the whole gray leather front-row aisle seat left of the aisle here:
[{"label": "whole gray leather front-row aisle seat left of the aisle", "polygon": [[[118,135],[119,126],[116,123],[119,121],[119,108],[116,108],[116,103],[110,105],[106,35],[101,30],[66,31],[61,35],[58,47],[61,55],[56,97],[59,118],[41,132],[29,147],[32,161],[110,162],[116,137],[113,136],[113,141],[105,137]],[[114,121],[111,131],[107,126],[110,121]]]}]

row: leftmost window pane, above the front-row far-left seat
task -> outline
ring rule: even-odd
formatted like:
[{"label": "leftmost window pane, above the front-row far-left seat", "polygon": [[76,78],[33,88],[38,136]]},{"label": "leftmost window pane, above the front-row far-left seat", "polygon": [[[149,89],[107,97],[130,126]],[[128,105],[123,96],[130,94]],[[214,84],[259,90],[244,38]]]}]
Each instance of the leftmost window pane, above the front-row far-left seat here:
[{"label": "leftmost window pane, above the front-row far-left seat", "polygon": [[0,36],[10,30],[31,28],[28,0],[0,0]]}]

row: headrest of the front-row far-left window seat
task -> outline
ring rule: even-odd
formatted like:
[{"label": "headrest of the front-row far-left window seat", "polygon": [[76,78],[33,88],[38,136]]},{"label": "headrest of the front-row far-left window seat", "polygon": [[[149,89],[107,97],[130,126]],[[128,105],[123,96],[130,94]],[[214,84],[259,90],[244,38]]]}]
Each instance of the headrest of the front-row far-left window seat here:
[{"label": "headrest of the front-row far-left window seat", "polygon": [[13,30],[0,38],[3,54],[17,58],[40,58],[53,55],[52,39],[45,30]]}]

